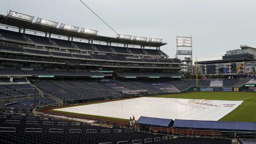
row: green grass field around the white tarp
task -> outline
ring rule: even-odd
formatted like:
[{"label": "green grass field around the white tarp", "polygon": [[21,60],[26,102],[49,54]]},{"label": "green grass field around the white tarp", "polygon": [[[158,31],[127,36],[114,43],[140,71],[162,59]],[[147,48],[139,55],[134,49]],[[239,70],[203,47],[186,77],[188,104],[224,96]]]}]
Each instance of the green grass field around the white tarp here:
[{"label": "green grass field around the white tarp", "polygon": [[[238,108],[230,112],[219,121],[241,121],[241,122],[256,122],[256,93],[255,92],[190,92],[183,94],[170,95],[155,95],[150,97],[165,97],[165,98],[187,98],[187,99],[205,99],[205,100],[230,100],[230,101],[244,101]],[[58,113],[67,113],[54,111]],[[92,116],[78,113],[68,113],[80,116],[90,116],[95,118],[112,119],[127,121],[127,119],[117,119],[110,117]]]}]

